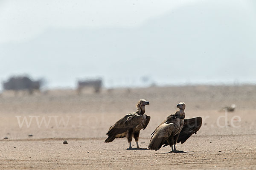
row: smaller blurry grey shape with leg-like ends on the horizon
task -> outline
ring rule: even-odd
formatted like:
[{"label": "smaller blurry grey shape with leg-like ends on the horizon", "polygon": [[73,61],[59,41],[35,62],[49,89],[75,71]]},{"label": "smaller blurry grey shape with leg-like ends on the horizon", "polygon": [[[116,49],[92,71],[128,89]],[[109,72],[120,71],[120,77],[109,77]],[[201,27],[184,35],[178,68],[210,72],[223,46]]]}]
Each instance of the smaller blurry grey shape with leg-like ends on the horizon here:
[{"label": "smaller blurry grey shape with leg-like ends on the horizon", "polygon": [[102,79],[87,79],[77,82],[77,92],[81,94],[83,88],[92,87],[95,93],[99,93],[102,88]]}]

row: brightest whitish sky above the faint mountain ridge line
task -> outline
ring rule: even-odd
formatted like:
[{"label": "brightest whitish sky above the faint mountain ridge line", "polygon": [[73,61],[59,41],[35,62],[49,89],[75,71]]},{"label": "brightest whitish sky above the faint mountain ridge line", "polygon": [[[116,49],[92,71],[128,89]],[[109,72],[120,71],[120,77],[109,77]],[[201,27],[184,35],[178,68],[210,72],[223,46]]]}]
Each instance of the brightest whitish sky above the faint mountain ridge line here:
[{"label": "brightest whitish sky above the faint mountain ridge line", "polygon": [[196,0],[2,0],[0,42],[23,42],[48,29],[137,28]]}]

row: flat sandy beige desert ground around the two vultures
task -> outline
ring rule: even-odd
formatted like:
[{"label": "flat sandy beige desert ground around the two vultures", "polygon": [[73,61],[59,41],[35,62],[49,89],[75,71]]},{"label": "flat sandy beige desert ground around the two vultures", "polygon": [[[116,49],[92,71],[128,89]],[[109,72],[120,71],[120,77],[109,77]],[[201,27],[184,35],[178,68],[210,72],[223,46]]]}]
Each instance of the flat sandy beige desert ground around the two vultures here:
[{"label": "flat sandy beige desert ground around the two vultures", "polygon": [[[146,114],[151,116],[140,133],[144,149],[126,150],[126,139],[105,144],[108,127],[136,111],[141,98],[150,102]],[[177,145],[184,153],[168,153],[170,147],[147,150],[151,132],[181,101],[186,118],[202,116],[198,134]],[[4,92],[0,169],[256,169],[255,102],[253,85],[114,89],[80,96],[72,90],[33,96]],[[221,111],[233,103],[235,112]]]}]

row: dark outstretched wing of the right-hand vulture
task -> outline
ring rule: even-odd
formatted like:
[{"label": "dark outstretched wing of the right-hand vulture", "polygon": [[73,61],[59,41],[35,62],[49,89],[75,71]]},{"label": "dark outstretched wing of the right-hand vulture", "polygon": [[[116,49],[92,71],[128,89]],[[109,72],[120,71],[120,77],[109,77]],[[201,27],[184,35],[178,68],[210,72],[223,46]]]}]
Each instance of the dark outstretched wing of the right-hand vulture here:
[{"label": "dark outstretched wing of the right-hand vulture", "polygon": [[203,120],[201,117],[185,119],[177,143],[181,142],[183,144],[187,139],[189,139],[190,136],[192,136],[192,134],[196,134],[196,132],[200,129],[202,122]]}]

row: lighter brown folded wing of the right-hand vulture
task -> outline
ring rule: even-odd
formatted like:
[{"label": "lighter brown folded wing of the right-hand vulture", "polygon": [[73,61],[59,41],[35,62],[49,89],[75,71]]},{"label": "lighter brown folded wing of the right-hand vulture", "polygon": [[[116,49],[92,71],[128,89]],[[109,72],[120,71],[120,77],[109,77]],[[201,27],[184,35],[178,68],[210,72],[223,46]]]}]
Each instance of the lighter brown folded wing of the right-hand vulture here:
[{"label": "lighter brown folded wing of the right-hand vulture", "polygon": [[174,129],[173,123],[163,123],[154,131],[154,135],[148,144],[148,148],[158,150],[166,142],[166,139],[172,134]]}]

